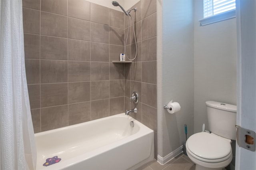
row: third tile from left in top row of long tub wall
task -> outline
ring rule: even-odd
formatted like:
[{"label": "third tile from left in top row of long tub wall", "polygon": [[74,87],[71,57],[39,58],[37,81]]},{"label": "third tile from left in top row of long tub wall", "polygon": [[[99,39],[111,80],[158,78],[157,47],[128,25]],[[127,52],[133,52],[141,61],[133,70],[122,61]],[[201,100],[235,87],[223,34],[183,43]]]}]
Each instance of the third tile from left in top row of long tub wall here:
[{"label": "third tile from left in top row of long tub wall", "polygon": [[86,0],[68,0],[68,16],[90,20],[90,2]]}]

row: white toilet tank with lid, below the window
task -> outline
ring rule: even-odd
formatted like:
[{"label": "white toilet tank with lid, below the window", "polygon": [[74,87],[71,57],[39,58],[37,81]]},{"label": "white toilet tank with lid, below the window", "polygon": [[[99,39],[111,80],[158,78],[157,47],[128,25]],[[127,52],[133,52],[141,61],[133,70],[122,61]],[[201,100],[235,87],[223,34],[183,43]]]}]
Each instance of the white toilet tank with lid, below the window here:
[{"label": "white toilet tank with lid, below the window", "polygon": [[209,130],[214,134],[236,140],[236,106],[206,101]]}]

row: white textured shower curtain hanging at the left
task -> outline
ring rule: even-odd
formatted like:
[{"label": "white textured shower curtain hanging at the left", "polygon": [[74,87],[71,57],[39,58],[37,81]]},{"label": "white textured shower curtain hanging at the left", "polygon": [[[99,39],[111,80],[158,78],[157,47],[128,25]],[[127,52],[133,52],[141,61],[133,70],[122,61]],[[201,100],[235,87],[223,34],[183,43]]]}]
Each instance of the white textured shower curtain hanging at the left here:
[{"label": "white textured shower curtain hanging at the left", "polygon": [[0,169],[36,168],[24,61],[22,0],[0,0]]}]

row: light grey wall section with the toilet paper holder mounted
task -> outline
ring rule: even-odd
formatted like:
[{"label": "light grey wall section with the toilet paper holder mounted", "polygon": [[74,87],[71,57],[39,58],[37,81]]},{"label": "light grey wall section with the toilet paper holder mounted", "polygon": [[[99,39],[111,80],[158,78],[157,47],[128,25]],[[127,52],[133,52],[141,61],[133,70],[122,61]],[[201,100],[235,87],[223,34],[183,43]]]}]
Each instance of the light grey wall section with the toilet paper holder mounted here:
[{"label": "light grey wall section with the toilet paper holder mounted", "polygon": [[[192,0],[158,0],[158,156],[162,158],[185,142],[184,124],[188,136],[194,132],[193,22]],[[163,109],[171,99],[181,105],[172,115]]]}]

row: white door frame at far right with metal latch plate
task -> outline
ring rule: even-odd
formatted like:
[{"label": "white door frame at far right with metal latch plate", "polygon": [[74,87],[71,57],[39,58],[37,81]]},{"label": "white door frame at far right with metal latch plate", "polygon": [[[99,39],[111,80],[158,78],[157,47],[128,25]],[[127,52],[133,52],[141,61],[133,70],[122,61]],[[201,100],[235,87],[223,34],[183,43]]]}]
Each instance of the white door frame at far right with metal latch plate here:
[{"label": "white door frame at far right with metal latch plate", "polygon": [[[236,0],[237,125],[256,132],[256,1]],[[256,139],[254,139],[256,142]],[[236,170],[256,170],[256,152],[236,145]]]}]

